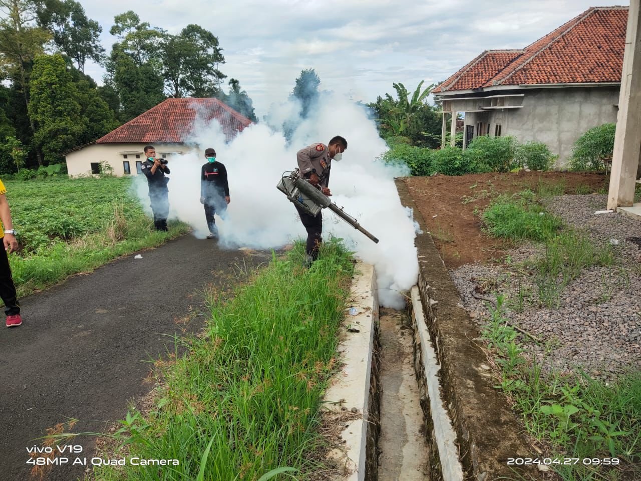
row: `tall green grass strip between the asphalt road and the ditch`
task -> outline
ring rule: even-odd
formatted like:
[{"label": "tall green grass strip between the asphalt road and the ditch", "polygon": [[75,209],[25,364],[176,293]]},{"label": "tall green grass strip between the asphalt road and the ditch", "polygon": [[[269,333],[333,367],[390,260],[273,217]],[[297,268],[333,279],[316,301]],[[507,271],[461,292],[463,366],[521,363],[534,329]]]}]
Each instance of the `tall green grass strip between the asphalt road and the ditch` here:
[{"label": "tall green grass strip between the asphalt road and the ditch", "polygon": [[[318,410],[336,369],[340,319],[353,264],[338,242],[303,269],[297,244],[223,301],[212,293],[201,335],[156,363],[149,412],[129,412],[111,457],[178,459],[178,466],[102,466],[99,481],[256,480],[319,469]],[[178,355],[187,348],[184,355]],[[271,473],[271,474],[270,474]],[[297,475],[297,477],[299,477]],[[261,478],[263,479],[263,478]],[[267,478],[265,478],[267,479]]]}]

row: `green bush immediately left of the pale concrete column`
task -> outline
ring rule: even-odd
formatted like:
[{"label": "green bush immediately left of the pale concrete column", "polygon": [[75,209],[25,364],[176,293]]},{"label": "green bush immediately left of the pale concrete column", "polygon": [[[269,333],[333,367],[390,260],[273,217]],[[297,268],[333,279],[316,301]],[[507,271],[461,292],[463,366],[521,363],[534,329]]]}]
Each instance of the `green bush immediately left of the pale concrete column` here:
[{"label": "green bush immediately left of the pale concrete column", "polygon": [[612,156],[616,128],[617,124],[603,124],[581,135],[572,148],[570,169],[573,171],[603,170],[601,158]]}]

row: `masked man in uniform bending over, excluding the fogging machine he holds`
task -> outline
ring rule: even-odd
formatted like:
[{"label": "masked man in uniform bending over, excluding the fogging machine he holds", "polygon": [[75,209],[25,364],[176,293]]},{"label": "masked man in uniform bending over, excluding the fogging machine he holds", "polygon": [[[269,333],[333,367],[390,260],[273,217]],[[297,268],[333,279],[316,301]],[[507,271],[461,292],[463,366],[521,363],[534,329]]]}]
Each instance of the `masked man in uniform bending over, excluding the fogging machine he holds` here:
[{"label": "masked man in uniform bending over, excluding the fogging machine he holds", "polygon": [[[331,196],[329,191],[329,170],[331,160],[337,162],[347,150],[347,140],[340,135],[329,140],[329,145],[312,144],[300,149],[296,154],[299,176],[309,181],[310,184],[320,189],[326,196]],[[322,242],[322,212],[317,215],[308,214],[303,208],[294,203],[301,222],[307,231],[307,263],[311,264],[319,255],[319,247]]]}]

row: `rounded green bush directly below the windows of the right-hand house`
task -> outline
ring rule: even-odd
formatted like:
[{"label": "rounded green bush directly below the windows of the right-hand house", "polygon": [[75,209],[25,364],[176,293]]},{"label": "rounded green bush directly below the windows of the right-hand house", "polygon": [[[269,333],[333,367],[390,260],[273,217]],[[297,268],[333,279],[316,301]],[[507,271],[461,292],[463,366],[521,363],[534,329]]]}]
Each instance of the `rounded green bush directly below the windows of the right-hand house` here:
[{"label": "rounded green bush directly below the windows of the right-hand house", "polygon": [[514,153],[517,148],[514,137],[489,137],[479,135],[465,150],[476,172],[510,172],[515,167]]}]

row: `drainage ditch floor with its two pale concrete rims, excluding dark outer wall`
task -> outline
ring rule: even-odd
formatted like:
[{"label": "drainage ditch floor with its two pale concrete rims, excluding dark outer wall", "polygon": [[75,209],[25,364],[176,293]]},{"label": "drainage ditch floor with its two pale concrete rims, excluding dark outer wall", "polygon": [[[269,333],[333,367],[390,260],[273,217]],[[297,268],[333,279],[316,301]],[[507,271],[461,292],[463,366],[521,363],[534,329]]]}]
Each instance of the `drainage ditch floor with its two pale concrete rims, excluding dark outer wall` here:
[{"label": "drainage ditch floor with its two pale concrete rims, excluding dark outer wall", "polygon": [[343,369],[324,398],[325,421],[341,431],[329,464],[349,481],[463,480],[419,289],[408,310],[379,311],[374,268],[356,270],[338,350]]}]

